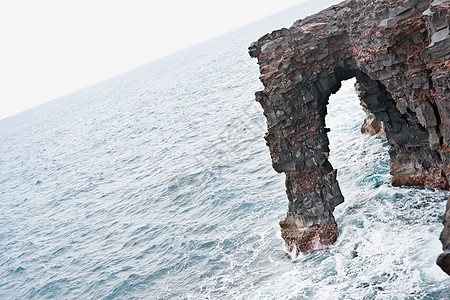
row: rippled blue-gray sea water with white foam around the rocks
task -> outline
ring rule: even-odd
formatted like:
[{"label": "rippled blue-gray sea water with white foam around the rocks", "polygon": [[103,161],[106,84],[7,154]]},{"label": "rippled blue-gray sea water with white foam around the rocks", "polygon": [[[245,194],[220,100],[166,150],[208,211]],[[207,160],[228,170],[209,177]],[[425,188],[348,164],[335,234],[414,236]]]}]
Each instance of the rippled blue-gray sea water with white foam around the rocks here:
[{"label": "rippled blue-gray sea water with white foam around the rocks", "polygon": [[[313,1],[0,121],[0,299],[450,299],[446,192],[393,188],[343,84],[329,250],[286,252],[248,45]],[[176,38],[176,37],[174,37]]]}]

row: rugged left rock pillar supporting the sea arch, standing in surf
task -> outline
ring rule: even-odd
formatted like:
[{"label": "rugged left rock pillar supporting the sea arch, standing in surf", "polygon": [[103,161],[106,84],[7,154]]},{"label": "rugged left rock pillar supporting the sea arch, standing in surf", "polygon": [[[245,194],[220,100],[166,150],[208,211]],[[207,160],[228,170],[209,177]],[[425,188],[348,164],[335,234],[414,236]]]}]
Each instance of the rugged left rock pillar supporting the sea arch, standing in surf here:
[{"label": "rugged left rock pillar supporting the sea arch, standing in surf", "polygon": [[328,94],[324,92],[310,85],[282,95],[257,93],[270,128],[265,139],[273,167],[286,173],[289,209],[280,221],[281,233],[288,248],[297,253],[337,239],[333,211],[343,197],[336,170],[328,162]]}]

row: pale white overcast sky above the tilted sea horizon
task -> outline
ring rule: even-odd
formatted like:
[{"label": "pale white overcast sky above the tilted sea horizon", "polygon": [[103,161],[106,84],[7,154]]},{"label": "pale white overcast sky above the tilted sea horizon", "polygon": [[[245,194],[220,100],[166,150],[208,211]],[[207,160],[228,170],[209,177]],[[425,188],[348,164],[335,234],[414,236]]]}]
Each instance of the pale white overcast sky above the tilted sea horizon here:
[{"label": "pale white overcast sky above the tilted sea horizon", "polygon": [[304,0],[0,0],[0,119]]}]

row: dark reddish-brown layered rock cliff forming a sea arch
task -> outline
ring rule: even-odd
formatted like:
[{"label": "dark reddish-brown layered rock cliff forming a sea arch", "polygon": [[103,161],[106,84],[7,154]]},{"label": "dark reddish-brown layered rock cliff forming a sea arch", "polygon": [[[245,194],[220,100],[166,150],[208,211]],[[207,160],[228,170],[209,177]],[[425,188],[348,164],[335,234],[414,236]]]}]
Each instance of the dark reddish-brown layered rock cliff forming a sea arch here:
[{"label": "dark reddish-brown layered rock cliff forming a sea arch", "polygon": [[[273,167],[286,173],[289,210],[280,226],[289,248],[337,238],[333,211],[343,197],[328,162],[325,115],[342,80],[356,77],[365,110],[383,124],[392,185],[449,189],[449,11],[450,1],[347,0],[249,47],[264,84],[256,100]],[[449,250],[448,234],[443,244]]]}]

